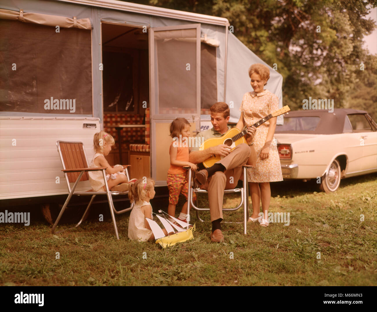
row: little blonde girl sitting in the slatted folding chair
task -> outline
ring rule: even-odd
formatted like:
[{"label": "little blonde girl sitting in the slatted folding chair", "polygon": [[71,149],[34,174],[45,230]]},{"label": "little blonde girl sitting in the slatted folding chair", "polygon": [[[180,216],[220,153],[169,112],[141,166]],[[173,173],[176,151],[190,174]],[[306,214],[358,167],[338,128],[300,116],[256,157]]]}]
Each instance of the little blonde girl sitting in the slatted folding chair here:
[{"label": "little blonde girl sitting in the slatted folding chair", "polygon": [[[105,131],[96,133],[93,138],[95,154],[89,168],[106,167],[106,174],[112,175],[118,173],[116,177],[113,175],[115,179],[107,179],[109,190],[126,192],[128,190],[128,179],[125,174],[120,174],[124,170],[123,166],[116,165],[112,167],[105,158],[105,156],[109,155],[111,147],[114,144],[114,138],[110,134],[106,133]],[[102,171],[89,171],[88,173],[90,186],[92,186],[93,191],[106,191]]]}]

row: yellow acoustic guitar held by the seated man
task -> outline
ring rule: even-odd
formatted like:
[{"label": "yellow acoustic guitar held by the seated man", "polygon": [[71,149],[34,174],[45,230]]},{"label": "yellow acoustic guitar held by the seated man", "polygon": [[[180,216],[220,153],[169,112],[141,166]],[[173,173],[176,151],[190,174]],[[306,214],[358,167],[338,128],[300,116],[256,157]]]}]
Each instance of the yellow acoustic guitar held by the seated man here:
[{"label": "yellow acoustic guitar held by the seated man", "polygon": [[[288,105],[285,105],[283,108],[280,108],[278,111],[273,112],[272,114],[262,118],[258,122],[254,123],[252,126],[259,127],[262,123],[265,123],[267,120],[280,116],[286,112],[289,112],[291,109]],[[199,151],[203,151],[204,149],[210,148],[212,146],[217,146],[219,144],[225,144],[231,147],[231,151],[241,143],[246,143],[246,139],[244,136],[247,135],[247,129],[244,131],[239,131],[237,128],[229,129],[221,138],[210,138],[205,140],[204,143],[199,148]],[[203,165],[206,168],[213,166],[216,162],[224,158],[221,155],[211,155],[205,161],[203,161]]]}]

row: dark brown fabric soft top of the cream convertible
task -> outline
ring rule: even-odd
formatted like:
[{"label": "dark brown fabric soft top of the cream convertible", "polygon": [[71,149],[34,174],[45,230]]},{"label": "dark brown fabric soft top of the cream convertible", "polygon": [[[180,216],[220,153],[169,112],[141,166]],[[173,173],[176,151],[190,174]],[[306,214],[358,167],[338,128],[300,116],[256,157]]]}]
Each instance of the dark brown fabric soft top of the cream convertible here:
[{"label": "dark brown fabric soft top of the cream convertible", "polygon": [[344,121],[346,115],[350,114],[368,114],[366,111],[349,108],[335,108],[334,112],[329,113],[327,109],[309,109],[300,111],[291,111],[284,114],[288,117],[320,117],[317,128],[314,131],[279,131],[276,127],[276,133],[303,133],[303,134],[338,134],[343,133]]}]

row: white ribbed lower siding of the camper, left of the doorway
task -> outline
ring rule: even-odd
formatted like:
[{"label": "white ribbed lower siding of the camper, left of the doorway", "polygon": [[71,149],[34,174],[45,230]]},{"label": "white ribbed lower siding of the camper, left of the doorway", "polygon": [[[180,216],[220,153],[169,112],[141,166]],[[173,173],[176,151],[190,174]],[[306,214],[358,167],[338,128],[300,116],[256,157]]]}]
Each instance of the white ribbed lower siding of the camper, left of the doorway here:
[{"label": "white ribbed lower siding of the camper, left of the doorway", "polygon": [[[67,194],[56,141],[83,142],[89,164],[98,131],[98,118],[0,118],[0,199]],[[88,189],[89,181],[80,182],[78,190]]]}]

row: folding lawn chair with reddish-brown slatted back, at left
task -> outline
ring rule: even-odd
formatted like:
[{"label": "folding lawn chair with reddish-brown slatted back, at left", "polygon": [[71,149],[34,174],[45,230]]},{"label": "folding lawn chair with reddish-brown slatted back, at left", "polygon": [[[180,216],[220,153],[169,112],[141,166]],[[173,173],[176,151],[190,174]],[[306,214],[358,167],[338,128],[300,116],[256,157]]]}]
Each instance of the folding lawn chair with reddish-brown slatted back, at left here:
[{"label": "folding lawn chair with reddish-brown slatted back, at left", "polygon": [[[82,142],[57,141],[56,145],[57,145],[58,152],[59,152],[59,155],[60,155],[61,164],[63,165],[62,171],[64,172],[64,176],[65,176],[66,181],[67,181],[69,195],[68,195],[66,202],[64,203],[63,207],[61,208],[60,214],[58,215],[58,218],[56,219],[54,226],[52,226],[52,234],[54,234],[55,228],[58,225],[58,222],[59,222],[61,216],[63,215],[64,210],[66,209],[72,195],[92,195],[92,198],[90,199],[90,202],[89,202],[88,206],[86,207],[85,212],[84,212],[81,220],[74,227],[70,227],[69,229],[74,229],[75,227],[78,227],[81,224],[81,222],[84,220],[84,217],[86,216],[87,212],[89,212],[90,205],[92,204],[96,195],[106,194],[107,200],[109,201],[110,214],[111,214],[111,218],[112,218],[112,221],[113,221],[113,224],[114,224],[115,235],[116,235],[116,238],[119,239],[118,228],[116,227],[114,212],[116,214],[123,214],[123,212],[130,211],[133,208],[133,204],[129,208],[123,209],[121,211],[117,211],[114,207],[112,195],[121,195],[121,194],[125,195],[125,194],[128,194],[128,191],[127,192],[112,192],[112,191],[109,190],[109,186],[107,185],[107,180],[106,180],[106,171],[105,171],[106,167],[88,168],[87,157],[86,157],[85,149],[84,149]],[[128,170],[127,170],[127,167],[129,167],[129,165],[126,165],[124,167],[126,169],[127,178],[128,178],[128,180],[130,180],[130,176],[129,176],[129,173],[128,173]],[[75,192],[75,189],[76,189],[79,181],[89,180],[89,175],[88,175],[89,171],[102,171],[103,178],[104,178],[104,181],[105,181],[106,192],[105,191],[94,192],[92,190],[89,190],[89,191],[86,191],[86,192],[82,192],[82,191],[81,192]],[[75,184],[71,189],[69,183],[73,183],[73,182]],[[60,232],[62,232],[62,231],[60,231]],[[60,232],[57,232],[57,233],[60,233]]]}]

